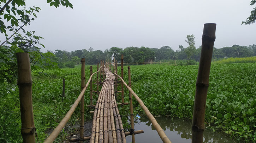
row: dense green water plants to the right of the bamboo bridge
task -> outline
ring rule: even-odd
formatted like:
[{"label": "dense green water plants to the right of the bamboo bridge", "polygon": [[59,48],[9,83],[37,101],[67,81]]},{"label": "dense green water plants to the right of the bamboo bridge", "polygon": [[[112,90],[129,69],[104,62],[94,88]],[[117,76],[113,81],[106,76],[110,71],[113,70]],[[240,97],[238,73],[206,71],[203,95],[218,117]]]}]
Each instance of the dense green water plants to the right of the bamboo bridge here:
[{"label": "dense green water plants to the right of the bamboo bridge", "polygon": [[[127,68],[124,69],[127,82]],[[255,63],[212,65],[206,102],[207,126],[221,129],[241,142],[256,141],[255,69]],[[197,71],[198,66],[131,66],[132,89],[153,115],[192,119]],[[134,98],[133,107],[135,114],[144,114]]]}]

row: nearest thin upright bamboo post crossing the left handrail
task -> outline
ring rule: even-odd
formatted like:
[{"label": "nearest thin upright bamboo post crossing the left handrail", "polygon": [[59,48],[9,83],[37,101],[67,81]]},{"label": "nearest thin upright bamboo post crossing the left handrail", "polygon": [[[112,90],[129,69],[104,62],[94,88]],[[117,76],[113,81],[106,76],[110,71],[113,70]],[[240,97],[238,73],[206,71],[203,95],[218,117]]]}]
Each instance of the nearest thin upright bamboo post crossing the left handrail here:
[{"label": "nearest thin upright bamboo post crossing the left handrail", "polygon": [[[81,66],[81,91],[83,91],[84,86],[85,86],[85,73],[84,73],[84,66],[85,66],[85,59],[82,58],[81,60],[82,66]],[[80,139],[79,143],[83,143],[83,137],[84,137],[84,94],[80,102],[80,112],[81,112],[81,117],[80,117]]]}]

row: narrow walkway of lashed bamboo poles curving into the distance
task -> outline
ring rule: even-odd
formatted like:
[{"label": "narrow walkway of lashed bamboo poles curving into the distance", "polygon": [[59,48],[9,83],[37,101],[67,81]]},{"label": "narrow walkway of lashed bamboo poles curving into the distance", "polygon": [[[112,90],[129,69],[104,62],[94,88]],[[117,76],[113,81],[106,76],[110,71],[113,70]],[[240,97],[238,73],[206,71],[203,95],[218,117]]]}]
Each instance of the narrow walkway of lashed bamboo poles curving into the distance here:
[{"label": "narrow walkway of lashed bamboo poles curving into the distance", "polygon": [[126,143],[122,120],[114,96],[114,74],[104,69],[106,80],[97,100],[90,143]]}]

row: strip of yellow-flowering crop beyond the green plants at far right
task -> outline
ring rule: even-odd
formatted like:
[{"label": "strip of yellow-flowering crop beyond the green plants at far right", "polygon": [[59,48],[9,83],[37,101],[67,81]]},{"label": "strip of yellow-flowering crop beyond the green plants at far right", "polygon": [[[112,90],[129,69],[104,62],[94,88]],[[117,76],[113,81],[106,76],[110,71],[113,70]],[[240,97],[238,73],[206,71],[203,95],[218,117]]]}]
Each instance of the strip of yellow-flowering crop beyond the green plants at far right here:
[{"label": "strip of yellow-flowering crop beyond the green plants at far right", "polygon": [[256,63],[256,57],[227,58],[227,59],[222,59],[214,62],[214,64],[231,64],[231,63]]}]

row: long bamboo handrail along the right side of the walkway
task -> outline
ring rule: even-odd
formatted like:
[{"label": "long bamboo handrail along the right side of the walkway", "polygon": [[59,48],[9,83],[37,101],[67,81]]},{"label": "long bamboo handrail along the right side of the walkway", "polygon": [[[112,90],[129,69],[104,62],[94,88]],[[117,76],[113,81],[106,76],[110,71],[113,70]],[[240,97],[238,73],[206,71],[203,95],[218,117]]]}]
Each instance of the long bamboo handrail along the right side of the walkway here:
[{"label": "long bamboo handrail along the right side of the walkway", "polygon": [[126,86],[126,88],[132,93],[133,97],[135,97],[135,99],[137,100],[137,102],[139,103],[139,105],[141,105],[141,108],[144,110],[144,112],[146,113],[147,117],[149,118],[150,122],[154,125],[158,135],[160,136],[160,138],[162,139],[163,143],[172,143],[170,141],[170,139],[166,136],[165,132],[163,131],[163,129],[161,128],[161,126],[157,123],[155,117],[150,113],[150,111],[148,110],[148,108],[144,105],[144,103],[142,102],[141,99],[139,99],[138,95],[136,95],[136,93],[129,87],[129,85],[127,85],[124,81],[123,78],[121,78],[118,74],[115,73],[115,75],[117,77],[119,77],[121,79],[121,81],[124,83],[124,85]]}]

